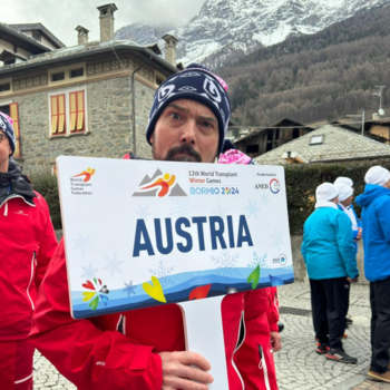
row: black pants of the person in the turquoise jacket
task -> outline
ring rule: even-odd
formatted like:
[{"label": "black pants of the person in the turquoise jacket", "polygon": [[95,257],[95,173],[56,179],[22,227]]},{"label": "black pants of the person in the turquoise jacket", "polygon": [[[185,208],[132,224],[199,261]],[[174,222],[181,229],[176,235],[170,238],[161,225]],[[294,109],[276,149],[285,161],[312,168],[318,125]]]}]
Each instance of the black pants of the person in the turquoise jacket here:
[{"label": "black pants of the person in the turquoise jacket", "polygon": [[342,348],[350,283],[347,277],[310,280],[315,337],[330,348]]}]

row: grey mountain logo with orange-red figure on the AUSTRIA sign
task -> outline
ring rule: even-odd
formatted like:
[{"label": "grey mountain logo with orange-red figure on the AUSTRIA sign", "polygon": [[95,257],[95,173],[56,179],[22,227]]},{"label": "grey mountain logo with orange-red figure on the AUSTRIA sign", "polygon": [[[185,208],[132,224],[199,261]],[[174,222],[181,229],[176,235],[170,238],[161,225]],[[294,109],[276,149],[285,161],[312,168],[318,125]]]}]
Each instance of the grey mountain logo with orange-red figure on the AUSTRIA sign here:
[{"label": "grey mountain logo with orange-red figure on the AUSTRIA sign", "polygon": [[138,185],[138,191],[133,196],[187,196],[176,182],[176,176],[163,174],[159,169],[149,177],[146,175]]}]

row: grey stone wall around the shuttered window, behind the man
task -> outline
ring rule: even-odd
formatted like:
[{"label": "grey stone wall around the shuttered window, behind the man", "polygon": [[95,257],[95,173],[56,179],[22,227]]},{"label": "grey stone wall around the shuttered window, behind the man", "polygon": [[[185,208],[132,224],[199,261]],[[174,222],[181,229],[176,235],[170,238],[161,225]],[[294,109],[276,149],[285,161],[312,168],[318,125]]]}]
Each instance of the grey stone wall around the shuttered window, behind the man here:
[{"label": "grey stone wall around the shuttered window, behind the man", "polygon": [[[121,158],[133,150],[131,84],[129,77],[117,77],[80,85],[86,87],[88,134],[51,137],[48,91],[19,96],[23,172],[51,173],[60,155]],[[72,87],[75,88],[75,87]],[[69,88],[50,90],[60,94]],[[145,129],[154,89],[136,81],[137,154],[150,157]]]}]

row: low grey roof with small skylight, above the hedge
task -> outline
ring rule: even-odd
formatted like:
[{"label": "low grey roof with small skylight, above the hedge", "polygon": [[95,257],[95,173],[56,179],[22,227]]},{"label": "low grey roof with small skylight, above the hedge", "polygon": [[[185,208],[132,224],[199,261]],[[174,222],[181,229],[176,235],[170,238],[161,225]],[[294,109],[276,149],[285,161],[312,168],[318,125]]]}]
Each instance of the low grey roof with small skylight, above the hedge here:
[{"label": "low grey roof with small skylight, above the hedge", "polygon": [[[310,145],[310,140],[314,136],[324,136],[323,143]],[[287,165],[289,162],[283,158],[283,153],[295,153],[309,163],[330,163],[390,157],[390,146],[343,128],[325,125],[256,157],[255,160],[263,165]]]}]

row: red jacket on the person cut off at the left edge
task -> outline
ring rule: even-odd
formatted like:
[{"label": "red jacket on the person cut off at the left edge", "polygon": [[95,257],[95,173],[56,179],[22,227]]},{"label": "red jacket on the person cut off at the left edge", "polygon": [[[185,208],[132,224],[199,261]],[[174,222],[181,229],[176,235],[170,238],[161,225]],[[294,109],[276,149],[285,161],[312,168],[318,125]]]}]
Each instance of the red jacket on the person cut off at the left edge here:
[{"label": "red jacket on the person cut off at the left edge", "polygon": [[0,341],[26,339],[38,289],[57,247],[49,207],[36,193],[0,205]]}]

